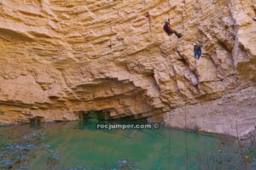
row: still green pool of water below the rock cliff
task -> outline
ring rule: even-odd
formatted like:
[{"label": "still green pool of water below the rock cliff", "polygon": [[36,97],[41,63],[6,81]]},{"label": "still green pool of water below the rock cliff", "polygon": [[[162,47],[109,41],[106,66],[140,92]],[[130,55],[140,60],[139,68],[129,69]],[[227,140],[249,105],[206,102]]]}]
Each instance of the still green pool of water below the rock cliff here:
[{"label": "still green pool of water below the rock cliff", "polygon": [[[220,144],[220,139],[210,135],[167,127],[99,130],[96,122],[41,124],[26,126],[26,131],[46,133],[45,144],[60,158],[52,169],[82,166],[87,170],[107,170],[114,167],[115,161],[128,160],[141,170],[185,170],[187,166],[197,170],[200,157],[218,150]],[[28,169],[45,169],[40,154],[40,150],[36,152],[37,158],[29,162]]]}]

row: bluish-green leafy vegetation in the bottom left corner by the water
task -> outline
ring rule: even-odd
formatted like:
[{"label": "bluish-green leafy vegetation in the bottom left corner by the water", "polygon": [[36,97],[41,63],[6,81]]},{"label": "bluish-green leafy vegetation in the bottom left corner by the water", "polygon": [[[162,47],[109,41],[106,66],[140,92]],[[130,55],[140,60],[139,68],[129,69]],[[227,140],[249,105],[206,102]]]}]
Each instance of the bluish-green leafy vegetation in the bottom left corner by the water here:
[{"label": "bluish-green leafy vegetation in the bottom left corner by the water", "polygon": [[[52,167],[59,161],[55,151],[49,150],[50,145],[44,144],[45,133],[32,133],[16,138],[15,135],[10,135],[12,130],[0,133],[0,169],[28,169],[30,162],[38,156],[44,156],[47,160],[45,167]],[[22,130],[20,128],[20,133],[24,133]],[[38,151],[40,155],[37,154]]]}]

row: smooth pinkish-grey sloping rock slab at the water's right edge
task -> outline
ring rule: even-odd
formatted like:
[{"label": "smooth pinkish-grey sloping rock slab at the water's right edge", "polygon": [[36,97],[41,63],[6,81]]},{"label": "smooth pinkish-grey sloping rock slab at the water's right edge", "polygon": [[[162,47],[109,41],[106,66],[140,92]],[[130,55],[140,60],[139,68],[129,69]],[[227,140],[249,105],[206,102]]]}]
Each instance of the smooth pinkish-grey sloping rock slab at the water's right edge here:
[{"label": "smooth pinkish-grey sloping rock slab at the water's right edge", "polygon": [[244,136],[255,125],[255,88],[245,88],[220,99],[183,106],[164,115],[172,127]]}]

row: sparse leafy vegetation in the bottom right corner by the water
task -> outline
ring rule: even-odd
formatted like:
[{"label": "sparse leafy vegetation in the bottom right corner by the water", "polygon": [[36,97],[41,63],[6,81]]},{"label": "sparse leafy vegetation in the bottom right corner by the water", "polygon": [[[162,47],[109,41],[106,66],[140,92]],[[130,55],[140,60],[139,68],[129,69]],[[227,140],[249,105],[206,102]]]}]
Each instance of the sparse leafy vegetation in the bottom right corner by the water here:
[{"label": "sparse leafy vegetation in the bottom right corner by the water", "polygon": [[221,149],[201,156],[201,170],[255,170],[256,138],[252,134],[243,144],[234,145],[224,138]]}]

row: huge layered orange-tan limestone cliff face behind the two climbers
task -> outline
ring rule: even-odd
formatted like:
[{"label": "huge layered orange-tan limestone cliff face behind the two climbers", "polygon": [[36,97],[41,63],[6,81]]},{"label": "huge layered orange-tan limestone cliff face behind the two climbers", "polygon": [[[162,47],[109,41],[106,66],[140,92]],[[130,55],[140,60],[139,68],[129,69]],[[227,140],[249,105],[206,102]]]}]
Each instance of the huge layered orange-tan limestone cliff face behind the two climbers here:
[{"label": "huge layered orange-tan limestone cliff face behind the two climbers", "polygon": [[[256,122],[255,8],[256,0],[1,0],[0,122],[96,110],[232,135],[237,122],[247,133]],[[166,35],[167,18],[182,38]]]}]

